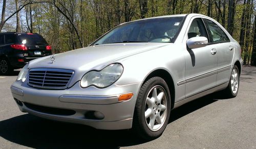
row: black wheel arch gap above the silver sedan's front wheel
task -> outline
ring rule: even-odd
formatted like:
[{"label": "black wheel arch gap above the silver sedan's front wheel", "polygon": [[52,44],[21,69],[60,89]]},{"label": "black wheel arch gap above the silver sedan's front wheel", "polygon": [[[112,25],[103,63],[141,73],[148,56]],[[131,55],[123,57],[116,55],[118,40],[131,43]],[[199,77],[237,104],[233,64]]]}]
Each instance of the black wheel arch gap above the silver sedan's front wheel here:
[{"label": "black wheel arch gap above the silver sedan's front wheel", "polygon": [[172,75],[164,69],[156,69],[152,71],[150,74],[148,74],[148,76],[144,79],[142,84],[144,84],[148,79],[153,77],[161,77],[168,85],[171,100],[171,109],[173,109],[175,103],[175,86]]}]

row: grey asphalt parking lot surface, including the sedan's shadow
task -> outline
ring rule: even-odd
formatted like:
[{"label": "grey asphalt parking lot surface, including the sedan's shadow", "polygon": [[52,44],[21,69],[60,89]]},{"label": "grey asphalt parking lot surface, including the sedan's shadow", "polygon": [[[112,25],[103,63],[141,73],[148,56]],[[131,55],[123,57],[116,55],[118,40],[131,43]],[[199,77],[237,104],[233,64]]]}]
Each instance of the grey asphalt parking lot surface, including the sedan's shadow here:
[{"label": "grey asphalt parking lot surface, including the sedan's shadow", "polygon": [[244,67],[236,98],[210,94],[172,111],[163,135],[142,141],[129,130],[104,131],[18,110],[13,76],[0,76],[0,148],[256,148],[256,68]]}]

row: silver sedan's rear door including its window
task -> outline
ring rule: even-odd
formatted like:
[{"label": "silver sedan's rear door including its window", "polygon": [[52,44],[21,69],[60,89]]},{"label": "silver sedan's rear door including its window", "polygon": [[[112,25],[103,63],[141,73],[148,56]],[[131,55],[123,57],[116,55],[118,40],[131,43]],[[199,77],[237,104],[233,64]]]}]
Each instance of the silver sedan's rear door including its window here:
[{"label": "silver sedan's rear door including its window", "polygon": [[214,45],[217,49],[217,85],[220,85],[229,81],[234,47],[226,33],[217,23],[209,19],[203,20],[209,33],[209,44]]}]

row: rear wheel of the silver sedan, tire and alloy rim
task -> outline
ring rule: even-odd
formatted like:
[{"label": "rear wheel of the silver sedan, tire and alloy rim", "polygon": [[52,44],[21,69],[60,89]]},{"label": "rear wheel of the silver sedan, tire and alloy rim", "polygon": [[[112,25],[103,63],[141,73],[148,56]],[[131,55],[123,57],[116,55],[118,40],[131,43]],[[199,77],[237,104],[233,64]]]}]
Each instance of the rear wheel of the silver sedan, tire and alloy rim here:
[{"label": "rear wheel of the silver sedan, tire and alloy rim", "polygon": [[239,81],[240,81],[239,69],[236,65],[234,65],[232,72],[231,72],[228,86],[224,90],[227,97],[233,98],[233,97],[237,96],[238,90],[239,90],[239,84],[240,84]]}]

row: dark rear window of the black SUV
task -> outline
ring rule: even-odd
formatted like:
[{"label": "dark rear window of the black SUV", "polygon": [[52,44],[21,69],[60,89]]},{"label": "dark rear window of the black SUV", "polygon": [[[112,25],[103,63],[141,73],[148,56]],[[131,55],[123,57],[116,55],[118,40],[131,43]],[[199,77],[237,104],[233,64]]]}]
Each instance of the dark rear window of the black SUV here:
[{"label": "dark rear window of the black SUV", "polygon": [[18,34],[18,40],[23,44],[47,44],[46,40],[38,34]]}]

